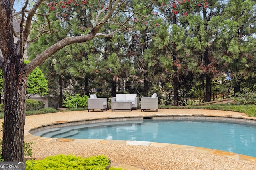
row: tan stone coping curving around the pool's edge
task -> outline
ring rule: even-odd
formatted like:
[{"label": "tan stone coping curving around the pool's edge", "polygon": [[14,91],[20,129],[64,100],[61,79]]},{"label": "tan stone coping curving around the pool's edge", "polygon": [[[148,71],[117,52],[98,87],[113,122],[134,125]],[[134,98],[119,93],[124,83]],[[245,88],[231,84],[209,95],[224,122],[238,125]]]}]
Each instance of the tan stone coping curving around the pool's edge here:
[{"label": "tan stone coping curving around the pool's edge", "polygon": [[209,114],[141,114],[141,115],[126,115],[126,116],[104,116],[104,117],[91,117],[86,119],[74,119],[72,121],[55,121],[49,123],[43,123],[38,125],[26,126],[24,129],[24,139],[26,140],[40,140],[40,141],[59,141],[59,142],[82,142],[82,143],[115,143],[115,144],[126,144],[126,145],[141,145],[141,146],[149,146],[149,147],[167,147],[172,149],[182,149],[182,150],[191,150],[194,152],[202,152],[214,154],[217,156],[226,156],[228,158],[232,158],[234,160],[240,160],[243,162],[249,162],[256,164],[256,157],[247,156],[243,154],[237,154],[233,152],[227,152],[222,150],[203,148],[203,147],[194,147],[189,145],[179,145],[179,144],[171,144],[171,143],[157,143],[157,142],[145,142],[145,141],[124,141],[124,140],[110,140],[110,139],[70,139],[70,138],[47,138],[40,137],[30,134],[30,131],[33,131],[38,128],[47,127],[48,125],[62,125],[63,123],[81,123],[84,121],[102,121],[102,122],[110,122],[116,121],[119,119],[120,121],[132,120],[132,119],[161,119],[168,117],[171,119],[182,119],[182,120],[190,120],[190,119],[205,119],[205,120],[224,120],[224,121],[239,121],[246,123],[255,123],[256,118],[248,117],[248,116],[237,116],[237,115],[209,115]]}]

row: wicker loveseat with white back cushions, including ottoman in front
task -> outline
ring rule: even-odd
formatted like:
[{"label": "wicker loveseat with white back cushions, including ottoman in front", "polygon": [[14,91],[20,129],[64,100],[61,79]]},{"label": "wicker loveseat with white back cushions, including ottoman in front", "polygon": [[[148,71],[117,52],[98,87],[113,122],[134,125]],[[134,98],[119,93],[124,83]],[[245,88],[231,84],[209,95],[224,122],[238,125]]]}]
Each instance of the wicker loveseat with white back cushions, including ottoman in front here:
[{"label": "wicker loveseat with white back cushions, including ottoman in front", "polygon": [[111,99],[111,111],[124,109],[132,111],[133,108],[136,110],[139,108],[137,94],[116,94],[116,97]]}]

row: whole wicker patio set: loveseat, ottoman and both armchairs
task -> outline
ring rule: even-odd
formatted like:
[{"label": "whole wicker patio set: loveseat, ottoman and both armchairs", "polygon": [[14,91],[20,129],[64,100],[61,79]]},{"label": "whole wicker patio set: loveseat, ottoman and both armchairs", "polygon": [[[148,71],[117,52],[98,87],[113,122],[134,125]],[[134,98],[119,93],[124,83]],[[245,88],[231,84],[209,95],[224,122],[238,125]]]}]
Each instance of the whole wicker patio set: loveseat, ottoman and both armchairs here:
[{"label": "whole wicker patio set: loveseat, ottoman and both armchairs", "polygon": [[[107,98],[97,98],[96,94],[90,94],[87,99],[88,112],[94,109],[108,110]],[[158,97],[154,93],[152,97],[141,98],[141,111],[156,109],[158,111]],[[116,94],[116,97],[111,98],[111,111],[139,109],[139,97],[137,94]]]}]

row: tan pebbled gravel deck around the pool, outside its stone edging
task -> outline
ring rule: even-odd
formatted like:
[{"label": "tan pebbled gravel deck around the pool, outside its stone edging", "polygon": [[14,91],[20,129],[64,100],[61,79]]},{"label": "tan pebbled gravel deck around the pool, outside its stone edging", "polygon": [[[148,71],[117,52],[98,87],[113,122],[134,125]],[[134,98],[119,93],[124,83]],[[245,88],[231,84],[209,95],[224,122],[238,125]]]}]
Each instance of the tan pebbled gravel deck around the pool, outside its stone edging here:
[{"label": "tan pebbled gravel deck around the pool, outside its stone edging", "polygon": [[[27,116],[25,128],[33,125],[74,119],[154,114],[245,116],[245,114],[236,112],[200,109],[159,109],[158,112],[146,111],[143,113],[140,112],[140,110],[133,110],[131,112],[75,111]],[[33,141],[32,149],[32,158],[44,158],[55,154],[75,154],[84,157],[106,155],[112,162],[120,162],[145,170],[256,170],[256,164],[234,160],[226,156],[217,156],[192,150],[172,149],[167,147],[37,140]]]}]

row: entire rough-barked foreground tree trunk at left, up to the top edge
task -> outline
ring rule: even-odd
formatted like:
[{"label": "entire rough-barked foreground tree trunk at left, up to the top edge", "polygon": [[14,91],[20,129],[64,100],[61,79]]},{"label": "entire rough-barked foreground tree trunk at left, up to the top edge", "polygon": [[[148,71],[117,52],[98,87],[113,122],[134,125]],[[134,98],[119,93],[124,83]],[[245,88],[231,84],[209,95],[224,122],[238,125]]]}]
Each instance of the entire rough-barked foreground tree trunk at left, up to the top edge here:
[{"label": "entire rough-barked foreground tree trunk at left, up to the top edge", "polygon": [[[20,46],[14,43],[12,8],[14,1],[0,1],[0,58],[4,82],[4,127],[2,158],[4,161],[22,161],[28,74],[22,69]],[[17,42],[19,44],[20,41]],[[24,76],[26,75],[26,76]]]}]

